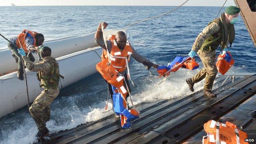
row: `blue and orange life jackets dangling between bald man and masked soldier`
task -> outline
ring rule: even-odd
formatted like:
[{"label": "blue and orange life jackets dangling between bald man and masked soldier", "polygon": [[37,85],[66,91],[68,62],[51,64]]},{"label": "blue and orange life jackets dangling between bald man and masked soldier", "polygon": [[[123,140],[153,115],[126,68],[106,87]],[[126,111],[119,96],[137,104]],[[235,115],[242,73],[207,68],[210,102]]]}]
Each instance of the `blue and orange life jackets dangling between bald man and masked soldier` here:
[{"label": "blue and orange life jackets dangling between bald man and masked soldier", "polygon": [[175,59],[171,62],[171,64],[168,64],[168,66],[159,66],[157,71],[160,74],[159,78],[162,75],[169,75],[170,72],[176,72],[180,68],[184,69],[190,69],[195,70],[199,67],[199,64],[195,61],[195,59],[191,59],[189,57],[180,57],[177,56]]}]

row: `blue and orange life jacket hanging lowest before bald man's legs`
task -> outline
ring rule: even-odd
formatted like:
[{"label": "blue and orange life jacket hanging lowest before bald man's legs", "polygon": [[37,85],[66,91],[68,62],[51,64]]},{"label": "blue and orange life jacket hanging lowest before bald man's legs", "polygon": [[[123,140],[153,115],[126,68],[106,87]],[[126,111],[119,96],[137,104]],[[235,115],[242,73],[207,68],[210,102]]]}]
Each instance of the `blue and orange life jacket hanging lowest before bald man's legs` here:
[{"label": "blue and orange life jacket hanging lowest before bald man's legs", "polygon": [[121,127],[130,128],[132,126],[131,121],[139,118],[139,112],[133,108],[128,110],[126,97],[116,87],[112,86],[112,90],[113,110],[115,114],[120,116]]}]

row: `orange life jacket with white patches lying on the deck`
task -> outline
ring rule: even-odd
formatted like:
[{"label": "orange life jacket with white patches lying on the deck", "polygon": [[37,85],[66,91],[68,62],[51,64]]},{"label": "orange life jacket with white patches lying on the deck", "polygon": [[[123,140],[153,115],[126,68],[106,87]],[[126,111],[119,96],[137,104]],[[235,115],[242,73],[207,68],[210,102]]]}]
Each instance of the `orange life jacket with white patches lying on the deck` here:
[{"label": "orange life jacket with white patches lying on the deck", "polygon": [[239,130],[233,123],[220,123],[210,120],[203,125],[208,134],[203,137],[203,144],[249,144],[245,142],[247,133]]}]

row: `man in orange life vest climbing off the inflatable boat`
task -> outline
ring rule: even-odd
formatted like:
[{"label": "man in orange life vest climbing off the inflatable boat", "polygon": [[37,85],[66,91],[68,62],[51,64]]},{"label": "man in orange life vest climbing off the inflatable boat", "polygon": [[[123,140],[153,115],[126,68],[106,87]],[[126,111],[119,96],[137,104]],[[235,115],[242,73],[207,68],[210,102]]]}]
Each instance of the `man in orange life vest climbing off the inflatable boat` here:
[{"label": "man in orange life vest climbing off the inflatable boat", "polygon": [[[11,55],[16,59],[16,62],[18,63],[18,71],[17,71],[17,75],[18,75],[18,79],[23,80],[23,64],[22,64],[22,60],[21,60],[21,55],[18,53],[18,48],[22,48],[26,55],[28,53],[28,51],[35,51],[37,50],[38,46],[41,46],[43,44],[44,41],[44,37],[43,34],[39,34],[38,32],[33,32],[31,30],[23,30],[21,32],[21,34],[19,34],[16,37],[12,37],[10,39],[11,43],[8,43],[8,48],[11,50]],[[32,55],[32,53],[30,53],[28,55],[29,59],[34,62],[35,59]]]}]

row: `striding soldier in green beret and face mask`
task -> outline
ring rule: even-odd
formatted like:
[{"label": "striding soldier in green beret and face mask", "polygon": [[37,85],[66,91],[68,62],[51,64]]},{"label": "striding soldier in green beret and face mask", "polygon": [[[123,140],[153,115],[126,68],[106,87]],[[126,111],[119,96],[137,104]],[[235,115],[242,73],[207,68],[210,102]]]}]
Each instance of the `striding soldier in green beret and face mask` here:
[{"label": "striding soldier in green beret and face mask", "polygon": [[188,54],[191,58],[197,53],[203,63],[201,69],[192,78],[186,80],[191,91],[194,91],[194,84],[205,78],[203,92],[208,97],[216,96],[211,90],[213,82],[217,75],[216,48],[220,45],[222,50],[226,52],[227,45],[233,43],[235,39],[234,23],[238,20],[240,9],[238,7],[229,6],[220,18],[211,21],[203,31],[197,36],[192,50]]}]

